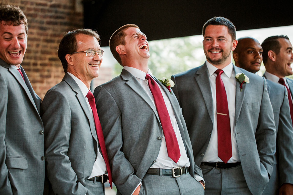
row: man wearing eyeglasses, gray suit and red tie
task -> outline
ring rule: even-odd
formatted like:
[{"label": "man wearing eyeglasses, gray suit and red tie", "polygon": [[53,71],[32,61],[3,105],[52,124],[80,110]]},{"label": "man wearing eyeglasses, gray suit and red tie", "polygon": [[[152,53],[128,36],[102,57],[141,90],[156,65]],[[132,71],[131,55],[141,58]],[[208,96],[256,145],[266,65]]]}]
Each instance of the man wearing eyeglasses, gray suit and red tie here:
[{"label": "man wearing eyeglasses, gray suit and red tie", "polygon": [[59,44],[65,75],[41,104],[49,194],[105,194],[108,177],[112,185],[103,132],[89,90],[103,60],[99,40],[96,32],[78,29],[67,32]]}]

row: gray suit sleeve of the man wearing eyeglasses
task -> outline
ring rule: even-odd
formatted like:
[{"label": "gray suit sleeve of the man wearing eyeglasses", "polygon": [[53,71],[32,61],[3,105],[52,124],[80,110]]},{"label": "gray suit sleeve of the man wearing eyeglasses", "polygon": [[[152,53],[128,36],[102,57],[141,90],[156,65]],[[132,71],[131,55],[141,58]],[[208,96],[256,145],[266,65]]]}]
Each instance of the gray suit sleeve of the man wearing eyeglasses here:
[{"label": "gray suit sleeve of the man wearing eyeglasses", "polygon": [[67,156],[72,119],[69,100],[58,91],[49,91],[41,103],[41,114],[47,176],[54,193],[86,194],[87,189],[77,181]]}]

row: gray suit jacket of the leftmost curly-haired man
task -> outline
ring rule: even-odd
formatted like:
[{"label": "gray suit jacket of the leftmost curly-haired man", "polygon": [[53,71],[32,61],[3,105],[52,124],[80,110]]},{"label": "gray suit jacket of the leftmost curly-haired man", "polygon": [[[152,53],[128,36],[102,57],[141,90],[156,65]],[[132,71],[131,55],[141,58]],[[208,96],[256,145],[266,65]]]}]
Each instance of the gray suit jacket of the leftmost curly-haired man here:
[{"label": "gray suit jacket of the leftmost curly-haired man", "polygon": [[43,194],[41,99],[27,75],[0,59],[0,194]]}]

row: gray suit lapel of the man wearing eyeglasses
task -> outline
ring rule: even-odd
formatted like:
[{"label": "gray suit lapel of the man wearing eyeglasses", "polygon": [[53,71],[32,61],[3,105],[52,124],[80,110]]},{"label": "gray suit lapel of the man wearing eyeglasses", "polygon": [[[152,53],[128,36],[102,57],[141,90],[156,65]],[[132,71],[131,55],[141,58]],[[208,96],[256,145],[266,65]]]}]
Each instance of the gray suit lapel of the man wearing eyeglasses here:
[{"label": "gray suit lapel of the man wearing eyeglasses", "polygon": [[76,93],[76,98],[78,99],[81,108],[84,110],[84,113],[86,114],[86,117],[88,118],[90,128],[91,128],[91,134],[93,138],[96,140],[96,142],[98,142],[95,123],[93,121],[93,117],[91,116],[91,112],[88,108],[88,104],[86,103],[86,99],[81,92],[81,89],[79,88],[78,84],[74,81],[74,79],[69,74],[66,73],[63,77],[63,80],[66,81],[71,87],[71,89]]}]

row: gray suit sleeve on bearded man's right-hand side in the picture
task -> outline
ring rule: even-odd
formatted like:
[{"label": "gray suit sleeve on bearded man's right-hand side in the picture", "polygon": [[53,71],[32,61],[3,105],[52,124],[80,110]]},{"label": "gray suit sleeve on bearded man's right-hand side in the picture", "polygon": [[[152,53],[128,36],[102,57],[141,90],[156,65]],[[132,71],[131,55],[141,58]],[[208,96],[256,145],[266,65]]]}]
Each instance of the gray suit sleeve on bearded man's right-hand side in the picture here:
[{"label": "gray suit sleeve on bearded man's right-hand side in the picture", "polygon": [[260,162],[270,175],[273,170],[274,154],[276,152],[276,128],[272,105],[268,95],[267,85],[264,79],[263,96],[260,103],[258,126],[255,132],[255,140],[260,156]]}]

